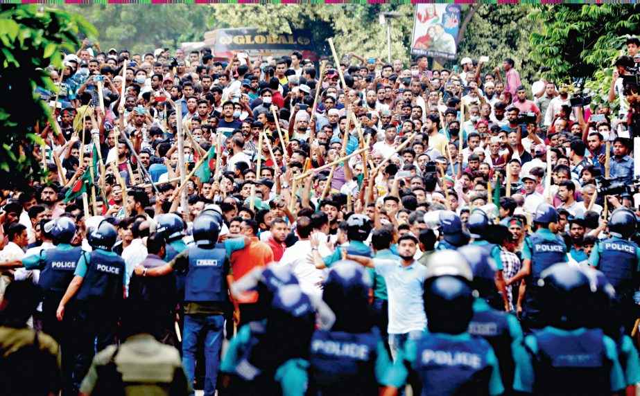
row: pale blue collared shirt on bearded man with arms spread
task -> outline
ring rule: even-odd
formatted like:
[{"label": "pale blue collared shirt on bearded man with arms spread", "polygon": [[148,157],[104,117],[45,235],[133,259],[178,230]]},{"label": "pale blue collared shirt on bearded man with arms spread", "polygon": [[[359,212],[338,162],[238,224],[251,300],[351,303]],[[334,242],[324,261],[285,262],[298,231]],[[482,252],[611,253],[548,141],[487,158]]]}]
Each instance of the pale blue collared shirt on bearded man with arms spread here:
[{"label": "pale blue collared shirt on bearded man with arms spread", "polygon": [[389,334],[424,330],[424,278],[426,267],[413,261],[404,267],[400,259],[374,258],[376,273],[383,276],[389,298]]}]

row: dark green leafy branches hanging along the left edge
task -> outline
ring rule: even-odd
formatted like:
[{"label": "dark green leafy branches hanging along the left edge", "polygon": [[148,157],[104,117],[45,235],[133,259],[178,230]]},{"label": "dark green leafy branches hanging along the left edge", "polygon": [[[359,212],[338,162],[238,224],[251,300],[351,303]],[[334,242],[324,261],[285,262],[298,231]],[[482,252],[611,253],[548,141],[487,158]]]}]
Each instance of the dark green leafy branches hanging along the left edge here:
[{"label": "dark green leafy branches hanging along the left edge", "polygon": [[36,87],[53,90],[42,68],[62,66],[60,50],[75,51],[78,32],[95,34],[82,17],[58,10],[40,11],[35,4],[0,8],[0,184],[24,187],[44,176],[30,145],[43,143],[33,133],[36,123],[51,117],[49,105],[34,93]]}]

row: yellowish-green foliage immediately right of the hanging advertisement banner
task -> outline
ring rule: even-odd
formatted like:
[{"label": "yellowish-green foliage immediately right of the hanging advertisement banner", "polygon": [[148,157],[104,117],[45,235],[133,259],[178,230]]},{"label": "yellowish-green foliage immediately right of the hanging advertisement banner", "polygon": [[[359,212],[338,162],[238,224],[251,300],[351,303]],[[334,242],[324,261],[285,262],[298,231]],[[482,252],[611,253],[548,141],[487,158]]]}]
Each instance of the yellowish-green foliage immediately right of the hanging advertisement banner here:
[{"label": "yellowish-green foliage immediately right of the hanging advertisement banner", "polygon": [[469,22],[465,37],[460,39],[458,60],[465,56],[474,60],[488,56],[490,62],[483,65],[483,73],[490,73],[498,66],[504,77],[502,62],[510,57],[525,85],[535,81],[540,64],[530,60],[529,33],[538,26],[526,19],[530,10],[527,5],[481,5]]}]

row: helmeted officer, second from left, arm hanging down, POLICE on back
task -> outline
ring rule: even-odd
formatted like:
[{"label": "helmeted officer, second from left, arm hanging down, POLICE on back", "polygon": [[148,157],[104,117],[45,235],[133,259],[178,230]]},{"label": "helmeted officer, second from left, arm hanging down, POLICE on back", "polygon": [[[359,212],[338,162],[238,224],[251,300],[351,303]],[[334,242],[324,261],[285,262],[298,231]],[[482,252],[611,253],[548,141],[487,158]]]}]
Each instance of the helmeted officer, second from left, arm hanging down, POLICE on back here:
[{"label": "helmeted officer, second from left, arm hanging down, POLICE on back", "polygon": [[76,297],[78,335],[74,341],[76,367],[73,374],[76,386],[87,374],[96,349],[99,352],[116,342],[116,327],[126,295],[125,262],[112,252],[116,236],[116,228],[106,221],[89,233],[93,251],[80,254],[73,279],[58,305],[57,316],[62,321],[65,307]]}]

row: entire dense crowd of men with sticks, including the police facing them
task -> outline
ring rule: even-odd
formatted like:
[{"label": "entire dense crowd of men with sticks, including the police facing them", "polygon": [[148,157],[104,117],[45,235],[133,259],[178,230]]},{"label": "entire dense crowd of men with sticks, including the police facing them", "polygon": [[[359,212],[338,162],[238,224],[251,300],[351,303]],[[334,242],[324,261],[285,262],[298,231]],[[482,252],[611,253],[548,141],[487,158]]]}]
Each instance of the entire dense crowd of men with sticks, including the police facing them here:
[{"label": "entire dense crowd of men with sticks, including the police facing them", "polygon": [[512,59],[85,39],[37,90],[46,180],[1,192],[0,393],[632,391],[625,45],[596,106]]}]

